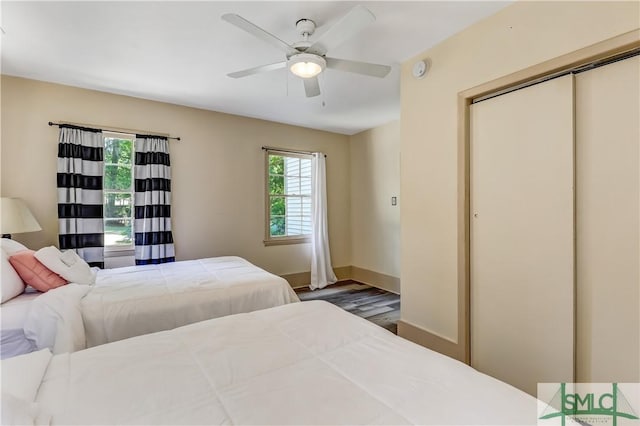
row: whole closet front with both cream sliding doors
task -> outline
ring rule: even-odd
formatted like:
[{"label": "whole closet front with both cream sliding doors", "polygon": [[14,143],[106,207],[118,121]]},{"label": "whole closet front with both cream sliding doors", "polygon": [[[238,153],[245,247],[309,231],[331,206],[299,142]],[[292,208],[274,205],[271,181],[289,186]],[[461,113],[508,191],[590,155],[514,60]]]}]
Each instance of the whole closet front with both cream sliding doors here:
[{"label": "whole closet front with both cream sliding doors", "polygon": [[473,103],[471,365],[640,381],[640,57]]}]

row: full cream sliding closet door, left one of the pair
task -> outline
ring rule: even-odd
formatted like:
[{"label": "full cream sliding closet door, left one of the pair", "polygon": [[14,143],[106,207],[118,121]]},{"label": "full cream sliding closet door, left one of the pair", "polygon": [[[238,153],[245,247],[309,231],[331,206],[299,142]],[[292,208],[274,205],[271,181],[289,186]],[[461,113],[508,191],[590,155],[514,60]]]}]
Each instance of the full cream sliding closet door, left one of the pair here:
[{"label": "full cream sliding closet door, left one of the pair", "polygon": [[471,106],[471,365],[532,395],[573,381],[573,90]]}]

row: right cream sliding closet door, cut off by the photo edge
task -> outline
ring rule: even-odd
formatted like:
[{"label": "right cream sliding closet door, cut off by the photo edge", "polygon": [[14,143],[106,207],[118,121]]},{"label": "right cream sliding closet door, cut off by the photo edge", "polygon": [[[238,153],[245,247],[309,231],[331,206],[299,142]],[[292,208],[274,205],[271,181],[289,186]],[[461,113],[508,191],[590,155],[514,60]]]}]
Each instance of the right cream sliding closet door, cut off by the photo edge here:
[{"label": "right cream sliding closet door, cut off by the photo edge", "polygon": [[640,382],[640,58],[576,75],[576,373]]}]

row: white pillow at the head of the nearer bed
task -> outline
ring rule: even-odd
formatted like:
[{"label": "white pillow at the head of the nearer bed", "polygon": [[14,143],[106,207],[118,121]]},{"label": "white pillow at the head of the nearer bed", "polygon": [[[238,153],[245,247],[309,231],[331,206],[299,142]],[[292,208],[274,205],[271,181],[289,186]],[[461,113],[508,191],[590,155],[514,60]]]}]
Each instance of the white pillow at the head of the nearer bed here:
[{"label": "white pillow at the head of the nearer bed", "polygon": [[49,349],[3,359],[0,361],[2,392],[28,402],[35,401],[50,360]]}]

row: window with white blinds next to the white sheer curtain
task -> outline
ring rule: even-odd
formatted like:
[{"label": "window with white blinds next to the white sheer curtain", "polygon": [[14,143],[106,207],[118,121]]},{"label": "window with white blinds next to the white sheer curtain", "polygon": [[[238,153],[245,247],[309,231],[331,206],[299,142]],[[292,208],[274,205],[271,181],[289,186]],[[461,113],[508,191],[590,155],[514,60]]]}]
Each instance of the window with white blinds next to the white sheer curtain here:
[{"label": "window with white blinds next to the white sheer curtain", "polygon": [[267,224],[265,244],[309,241],[311,154],[266,150]]}]

